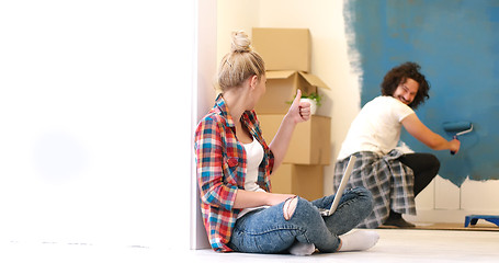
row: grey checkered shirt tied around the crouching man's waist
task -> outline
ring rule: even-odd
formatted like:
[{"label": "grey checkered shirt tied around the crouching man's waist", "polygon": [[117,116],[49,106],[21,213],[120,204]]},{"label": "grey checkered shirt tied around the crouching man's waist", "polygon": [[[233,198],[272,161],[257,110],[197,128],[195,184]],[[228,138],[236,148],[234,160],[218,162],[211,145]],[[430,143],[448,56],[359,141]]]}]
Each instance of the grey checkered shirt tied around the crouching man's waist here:
[{"label": "grey checkered shirt tied around the crouching man's waist", "polygon": [[[394,149],[386,156],[372,151],[353,155],[358,159],[347,186],[363,186],[371,191],[374,198],[373,211],[358,226],[359,228],[377,228],[388,218],[390,209],[416,215],[415,176],[412,170],[398,160],[404,155],[401,151]],[[334,191],[340,185],[349,159],[336,163]]]}]

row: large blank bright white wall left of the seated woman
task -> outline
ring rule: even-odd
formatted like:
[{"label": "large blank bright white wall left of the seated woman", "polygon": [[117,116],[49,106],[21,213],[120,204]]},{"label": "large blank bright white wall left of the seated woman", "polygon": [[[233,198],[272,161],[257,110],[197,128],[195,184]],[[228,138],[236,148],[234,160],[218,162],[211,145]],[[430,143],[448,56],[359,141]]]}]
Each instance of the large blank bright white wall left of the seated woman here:
[{"label": "large blank bright white wall left of the seated woman", "polygon": [[189,248],[195,22],[193,0],[2,1],[1,240]]}]

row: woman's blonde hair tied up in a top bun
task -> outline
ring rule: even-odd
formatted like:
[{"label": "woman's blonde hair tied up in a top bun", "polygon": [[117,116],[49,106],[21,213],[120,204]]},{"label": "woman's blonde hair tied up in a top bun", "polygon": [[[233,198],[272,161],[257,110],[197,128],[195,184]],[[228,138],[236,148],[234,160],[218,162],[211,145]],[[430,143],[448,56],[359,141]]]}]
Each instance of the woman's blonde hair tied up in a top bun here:
[{"label": "woman's blonde hair tied up in a top bun", "polygon": [[265,75],[262,57],[252,50],[251,41],[243,31],[233,32],[230,52],[224,56],[218,68],[218,89],[224,92],[241,87],[251,76],[260,80]]}]

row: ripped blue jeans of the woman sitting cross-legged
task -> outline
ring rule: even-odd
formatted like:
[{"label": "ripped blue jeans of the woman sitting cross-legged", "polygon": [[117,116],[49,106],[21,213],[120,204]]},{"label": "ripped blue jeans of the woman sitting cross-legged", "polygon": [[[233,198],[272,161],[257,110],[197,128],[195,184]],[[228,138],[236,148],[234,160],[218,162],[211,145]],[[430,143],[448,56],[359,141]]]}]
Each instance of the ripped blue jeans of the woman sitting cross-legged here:
[{"label": "ripped blue jeans of the woman sitting cross-legged", "polygon": [[295,242],[314,243],[320,252],[338,250],[343,235],[373,210],[371,192],[363,187],[347,190],[337,210],[322,217],[318,208],[329,208],[333,195],[313,202],[298,197],[290,220],[284,219],[284,202],[250,211],[236,221],[228,247],[248,253],[283,253]]}]

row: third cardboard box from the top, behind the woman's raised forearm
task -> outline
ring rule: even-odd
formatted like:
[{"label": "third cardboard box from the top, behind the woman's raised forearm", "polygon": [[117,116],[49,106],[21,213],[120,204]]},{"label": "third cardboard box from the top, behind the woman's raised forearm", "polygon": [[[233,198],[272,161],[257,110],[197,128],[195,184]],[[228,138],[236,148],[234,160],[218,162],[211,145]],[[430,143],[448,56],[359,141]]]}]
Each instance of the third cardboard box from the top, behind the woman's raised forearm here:
[{"label": "third cardboard box from the top, behind the woman's raised forearm", "polygon": [[[263,138],[268,144],[277,133],[284,115],[258,115]],[[313,115],[308,122],[296,125],[283,163],[330,164],[331,118]]]}]

